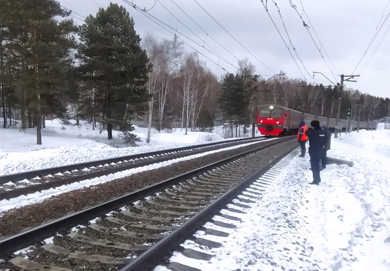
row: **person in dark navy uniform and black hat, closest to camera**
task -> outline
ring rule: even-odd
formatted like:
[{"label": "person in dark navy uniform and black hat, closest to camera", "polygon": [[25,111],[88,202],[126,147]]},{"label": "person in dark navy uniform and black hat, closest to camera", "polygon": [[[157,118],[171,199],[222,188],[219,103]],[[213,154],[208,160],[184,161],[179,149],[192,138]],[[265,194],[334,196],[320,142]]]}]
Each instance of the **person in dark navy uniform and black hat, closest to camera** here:
[{"label": "person in dark navy uniform and black hat, closest to camera", "polygon": [[313,181],[310,182],[310,184],[319,185],[321,182],[321,177],[319,175],[319,160],[323,156],[326,137],[325,131],[319,126],[318,120],[313,120],[310,125],[313,129],[306,131],[306,135],[309,138],[310,165],[312,166],[313,172]]}]

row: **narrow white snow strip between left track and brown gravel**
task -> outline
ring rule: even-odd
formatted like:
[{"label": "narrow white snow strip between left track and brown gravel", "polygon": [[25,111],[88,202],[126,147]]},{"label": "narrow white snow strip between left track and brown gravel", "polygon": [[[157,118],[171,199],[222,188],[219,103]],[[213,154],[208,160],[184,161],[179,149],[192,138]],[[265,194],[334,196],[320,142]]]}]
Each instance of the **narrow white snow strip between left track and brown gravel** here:
[{"label": "narrow white snow strip between left track and brown gravel", "polygon": [[[263,141],[266,142],[266,141],[272,141],[272,140],[275,140],[275,138],[270,138],[270,139],[266,139]],[[137,168],[131,168],[129,170],[122,170],[120,172],[115,172],[113,174],[104,175],[104,176],[96,177],[93,179],[87,179],[87,180],[80,181],[80,182],[73,182],[71,184],[64,184],[64,185],[56,187],[56,188],[50,188],[48,190],[37,191],[35,193],[31,193],[28,195],[21,195],[19,197],[11,198],[9,200],[3,199],[3,200],[0,200],[0,213],[4,213],[5,211],[8,211],[8,210],[13,209],[13,208],[19,208],[19,207],[22,207],[24,205],[39,203],[47,198],[57,196],[57,195],[60,195],[62,193],[66,193],[69,191],[77,190],[77,189],[80,189],[83,187],[90,187],[90,186],[94,186],[97,184],[102,184],[105,182],[113,181],[115,179],[123,178],[123,177],[129,176],[132,174],[136,174],[139,172],[153,170],[153,169],[160,168],[163,166],[169,166],[169,165],[172,165],[174,163],[179,163],[181,161],[187,161],[187,160],[191,160],[191,159],[195,159],[195,158],[200,158],[200,157],[203,157],[203,156],[206,156],[209,154],[213,154],[216,152],[238,149],[238,148],[253,145],[256,143],[258,143],[258,142],[250,142],[250,143],[240,144],[240,145],[236,145],[236,146],[225,147],[225,148],[217,149],[217,150],[213,150],[213,151],[202,152],[199,154],[193,154],[193,155],[185,156],[182,158],[171,159],[168,161],[154,163],[154,164],[147,165],[147,166],[140,166]]]}]

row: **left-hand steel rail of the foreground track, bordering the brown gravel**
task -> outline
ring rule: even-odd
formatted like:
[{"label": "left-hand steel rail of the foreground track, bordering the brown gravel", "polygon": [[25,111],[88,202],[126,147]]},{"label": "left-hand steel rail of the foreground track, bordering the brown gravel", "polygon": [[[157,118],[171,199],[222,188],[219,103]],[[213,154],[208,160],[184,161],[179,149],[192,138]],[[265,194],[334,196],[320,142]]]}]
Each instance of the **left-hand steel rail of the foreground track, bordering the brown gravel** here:
[{"label": "left-hand steel rail of the foreground track, bordering the brown gravel", "polygon": [[292,137],[295,138],[295,136],[289,136],[289,137],[284,137],[281,140],[277,139],[271,143],[268,143],[266,145],[262,145],[261,147],[257,147],[253,150],[243,152],[243,153],[238,154],[236,156],[232,156],[230,158],[223,159],[223,160],[215,162],[215,163],[211,163],[209,165],[203,166],[203,167],[198,168],[196,170],[192,170],[190,172],[181,174],[181,175],[176,176],[176,177],[172,177],[172,178],[167,179],[165,181],[161,181],[161,182],[158,182],[156,184],[146,186],[145,188],[142,188],[140,190],[133,191],[131,193],[127,193],[121,197],[113,198],[112,200],[109,200],[109,201],[104,202],[102,204],[98,204],[98,205],[83,209],[83,210],[78,211],[78,212],[67,214],[66,216],[63,216],[62,218],[51,220],[51,221],[43,223],[42,225],[39,225],[37,227],[24,230],[18,234],[14,234],[14,235],[9,236],[9,237],[5,237],[4,239],[0,240],[0,247],[1,247],[0,257],[2,257],[2,259],[4,259],[3,257],[7,257],[7,255],[9,255],[10,253],[13,253],[16,250],[20,250],[22,248],[25,248],[27,246],[34,244],[34,242],[41,241],[44,238],[53,236],[53,234],[55,234],[55,232],[57,232],[57,231],[74,227],[74,226],[80,224],[82,221],[89,221],[90,219],[96,218],[97,216],[99,216],[101,214],[105,214],[109,211],[112,211],[113,209],[117,209],[119,207],[122,207],[123,205],[126,205],[129,202],[134,202],[136,200],[139,200],[139,199],[142,199],[142,198],[147,197],[149,195],[152,195],[154,193],[157,193],[158,191],[164,190],[165,188],[168,188],[169,186],[172,186],[173,184],[177,184],[179,182],[186,181],[186,180],[191,179],[197,175],[203,174],[204,172],[207,172],[207,171],[212,170],[214,168],[217,168],[219,166],[230,163],[231,161],[234,161],[236,159],[245,157],[249,154],[260,151],[262,149],[266,149],[266,148],[271,147],[273,145],[277,145],[278,143],[285,142],[287,140],[291,140]]}]

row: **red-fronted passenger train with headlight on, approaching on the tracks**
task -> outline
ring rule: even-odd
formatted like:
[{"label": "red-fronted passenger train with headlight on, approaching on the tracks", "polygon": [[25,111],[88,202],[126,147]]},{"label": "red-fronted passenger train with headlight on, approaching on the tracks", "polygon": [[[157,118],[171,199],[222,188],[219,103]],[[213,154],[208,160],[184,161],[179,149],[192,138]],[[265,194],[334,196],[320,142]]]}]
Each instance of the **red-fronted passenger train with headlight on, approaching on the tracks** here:
[{"label": "red-fronted passenger train with headlight on, approaching on the tracks", "polygon": [[[308,127],[310,127],[312,120],[318,120],[321,127],[328,128],[329,131],[334,131],[336,126],[335,118],[299,112],[280,105],[262,105],[257,115],[257,129],[262,135],[266,136],[294,135],[298,133],[301,120],[305,121]],[[348,120],[340,119],[339,121],[342,123],[342,130],[346,130]],[[350,120],[349,122],[350,131],[358,128],[357,120]],[[374,121],[360,121],[359,123],[359,129],[375,130],[377,126],[378,123]]]}]

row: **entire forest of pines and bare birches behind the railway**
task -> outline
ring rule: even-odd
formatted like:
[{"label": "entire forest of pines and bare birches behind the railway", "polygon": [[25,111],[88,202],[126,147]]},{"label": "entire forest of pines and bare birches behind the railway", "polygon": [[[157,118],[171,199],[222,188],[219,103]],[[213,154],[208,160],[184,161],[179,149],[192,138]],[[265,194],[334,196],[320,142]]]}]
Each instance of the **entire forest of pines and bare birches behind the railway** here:
[{"label": "entire forest of pines and bare birches behind the railway", "polygon": [[135,143],[132,122],[150,129],[181,127],[209,131],[216,119],[248,126],[259,105],[278,104],[316,115],[375,120],[390,115],[390,100],[359,90],[310,84],[280,76],[266,80],[245,58],[236,74],[218,78],[177,38],[143,39],[122,6],[110,4],[83,25],[67,19],[70,11],[54,0],[1,0],[1,116],[3,128],[19,120],[21,129],[36,128],[41,144],[45,118],[69,120],[69,106],[80,119],[121,131]]}]

